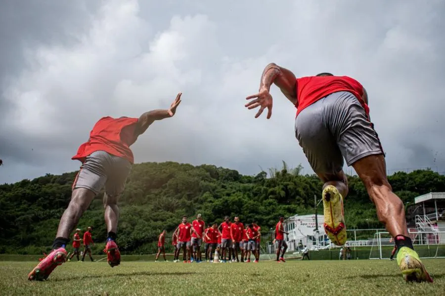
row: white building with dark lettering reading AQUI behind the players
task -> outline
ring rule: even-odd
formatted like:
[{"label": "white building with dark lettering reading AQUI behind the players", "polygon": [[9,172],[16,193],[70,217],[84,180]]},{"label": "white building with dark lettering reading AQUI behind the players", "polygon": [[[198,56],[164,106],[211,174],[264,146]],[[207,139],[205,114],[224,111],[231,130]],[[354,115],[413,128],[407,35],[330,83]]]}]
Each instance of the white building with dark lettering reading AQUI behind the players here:
[{"label": "white building with dark lettering reading AQUI behind the players", "polygon": [[284,235],[289,252],[298,250],[300,240],[303,246],[306,245],[308,248],[330,244],[323,228],[324,216],[317,215],[317,222],[318,231],[315,231],[315,215],[295,215],[284,221],[284,231],[289,232],[288,235]]}]

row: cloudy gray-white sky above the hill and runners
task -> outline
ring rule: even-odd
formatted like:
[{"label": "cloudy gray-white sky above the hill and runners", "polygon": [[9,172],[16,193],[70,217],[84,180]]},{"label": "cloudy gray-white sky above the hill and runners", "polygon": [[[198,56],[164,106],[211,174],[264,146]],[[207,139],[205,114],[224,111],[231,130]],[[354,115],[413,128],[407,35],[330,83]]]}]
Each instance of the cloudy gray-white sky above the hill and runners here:
[{"label": "cloudy gray-white sky above the hill and runners", "polygon": [[388,169],[445,171],[445,1],[1,2],[0,183],[77,170],[100,117],[168,108],[179,91],[136,162],[311,173],[287,99],[273,89],[269,120],[244,108],[269,62],[355,77]]}]

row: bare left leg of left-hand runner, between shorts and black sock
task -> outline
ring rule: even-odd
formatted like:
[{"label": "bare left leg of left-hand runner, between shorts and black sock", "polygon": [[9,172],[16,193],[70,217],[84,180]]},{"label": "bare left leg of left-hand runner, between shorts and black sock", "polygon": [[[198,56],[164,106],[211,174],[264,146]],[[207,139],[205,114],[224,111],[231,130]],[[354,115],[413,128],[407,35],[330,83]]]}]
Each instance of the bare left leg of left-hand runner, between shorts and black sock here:
[{"label": "bare left leg of left-hand runner, between shorts and black sock", "polygon": [[71,231],[79,223],[82,214],[88,209],[95,193],[87,188],[76,188],[71,194],[71,201],[60,218],[57,237],[69,238]]}]

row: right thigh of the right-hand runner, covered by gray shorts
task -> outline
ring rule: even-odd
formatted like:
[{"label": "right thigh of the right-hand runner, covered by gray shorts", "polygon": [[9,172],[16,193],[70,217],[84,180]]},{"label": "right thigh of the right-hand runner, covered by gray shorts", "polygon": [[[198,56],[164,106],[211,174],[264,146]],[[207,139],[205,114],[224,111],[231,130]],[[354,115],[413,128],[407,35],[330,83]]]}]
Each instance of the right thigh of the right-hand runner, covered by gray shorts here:
[{"label": "right thigh of the right-hand runner, covered by gray shorts", "polygon": [[328,108],[328,121],[348,166],[369,155],[384,155],[374,125],[357,98],[349,92],[337,94]]}]

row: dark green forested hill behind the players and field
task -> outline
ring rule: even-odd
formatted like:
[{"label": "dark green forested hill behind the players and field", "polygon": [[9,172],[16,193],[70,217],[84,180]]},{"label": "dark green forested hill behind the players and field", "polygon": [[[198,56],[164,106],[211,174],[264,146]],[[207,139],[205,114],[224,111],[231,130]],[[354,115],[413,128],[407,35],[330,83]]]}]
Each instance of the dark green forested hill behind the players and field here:
[{"label": "dark green forested hill behind the players and field", "polygon": [[[118,243],[127,252],[152,250],[153,241],[166,228],[172,231],[183,215],[222,222],[234,215],[242,222],[256,220],[273,227],[280,215],[314,212],[314,194],[320,198],[321,182],[314,175],[300,175],[301,167],[282,168],[244,176],[214,165],[192,166],[176,162],[135,164],[120,200]],[[0,252],[49,247],[60,216],[69,203],[77,172],[49,175],[32,181],[0,185]],[[396,173],[390,178],[403,202],[430,191],[445,191],[445,176],[429,170]],[[381,227],[373,204],[357,177],[350,177],[345,200],[348,228]],[[318,209],[322,214],[322,208]],[[102,194],[92,202],[79,226],[94,227],[93,238],[104,241]],[[266,236],[266,234],[265,234]],[[265,237],[266,240],[266,237]]]}]

